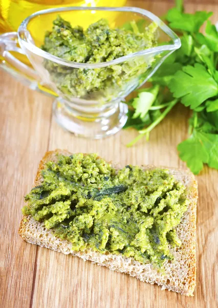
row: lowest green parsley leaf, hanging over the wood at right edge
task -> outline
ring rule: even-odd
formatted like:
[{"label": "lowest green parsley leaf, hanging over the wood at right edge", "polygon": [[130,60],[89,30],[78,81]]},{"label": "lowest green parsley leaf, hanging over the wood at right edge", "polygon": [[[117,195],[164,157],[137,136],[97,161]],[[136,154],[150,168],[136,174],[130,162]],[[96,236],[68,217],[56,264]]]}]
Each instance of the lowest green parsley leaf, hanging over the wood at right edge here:
[{"label": "lowest green parsley leaf, hanging over the wood at right edge", "polygon": [[179,157],[187,163],[193,174],[199,174],[204,163],[218,169],[218,134],[194,129],[191,136],[177,148]]}]

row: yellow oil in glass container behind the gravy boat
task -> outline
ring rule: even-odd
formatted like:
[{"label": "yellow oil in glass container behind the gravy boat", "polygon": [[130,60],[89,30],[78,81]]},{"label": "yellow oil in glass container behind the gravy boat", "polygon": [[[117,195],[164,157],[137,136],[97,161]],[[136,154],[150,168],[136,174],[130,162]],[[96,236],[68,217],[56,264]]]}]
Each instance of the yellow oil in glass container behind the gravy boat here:
[{"label": "yellow oil in glass container behind the gravy boat", "polygon": [[0,0],[0,33],[17,31],[26,17],[40,10],[68,6],[122,7],[125,3],[126,0]]}]

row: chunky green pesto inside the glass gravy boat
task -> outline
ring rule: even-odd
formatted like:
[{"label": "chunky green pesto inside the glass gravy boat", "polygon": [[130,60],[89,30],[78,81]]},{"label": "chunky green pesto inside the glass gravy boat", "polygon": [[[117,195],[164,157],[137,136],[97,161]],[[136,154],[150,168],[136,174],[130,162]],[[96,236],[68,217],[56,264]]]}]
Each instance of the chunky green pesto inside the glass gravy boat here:
[{"label": "chunky green pesto inside the glass gravy boat", "polygon": [[[57,16],[51,32],[47,32],[42,49],[64,60],[79,63],[100,63],[118,59],[124,55],[155,47],[157,25],[151,23],[140,32],[135,22],[130,30],[112,29],[108,21],[101,19],[88,29],[72,27]],[[131,26],[132,25],[132,26]],[[78,69],[45,61],[57,89],[71,97],[83,99],[104,98],[109,101],[121,90],[133,88],[142,82],[143,74],[154,58],[137,57],[131,61],[97,69]]]}]

